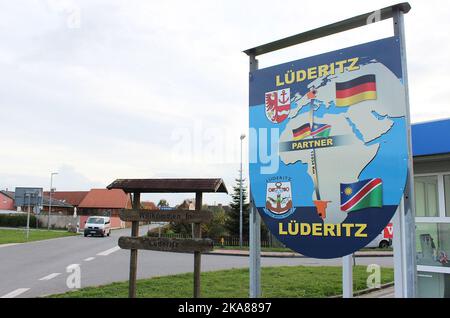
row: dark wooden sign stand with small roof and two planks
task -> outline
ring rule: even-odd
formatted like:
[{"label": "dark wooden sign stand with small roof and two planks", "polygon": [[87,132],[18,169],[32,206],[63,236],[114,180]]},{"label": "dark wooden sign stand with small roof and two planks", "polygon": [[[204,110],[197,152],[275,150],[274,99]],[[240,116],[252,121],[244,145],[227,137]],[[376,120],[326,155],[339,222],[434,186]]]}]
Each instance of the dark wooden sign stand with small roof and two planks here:
[{"label": "dark wooden sign stand with small roof and two planks", "polygon": [[[108,189],[133,193],[133,209],[122,210],[120,219],[131,222],[131,237],[120,237],[119,246],[130,250],[130,298],[136,297],[138,250],[194,253],[194,298],[200,297],[201,253],[213,249],[213,241],[201,238],[201,223],[212,220],[212,213],[202,211],[204,192],[228,193],[222,179],[118,179]],[[195,210],[142,210],[141,193],[195,193]],[[139,237],[139,222],[177,222],[194,224],[192,239]]]}]

